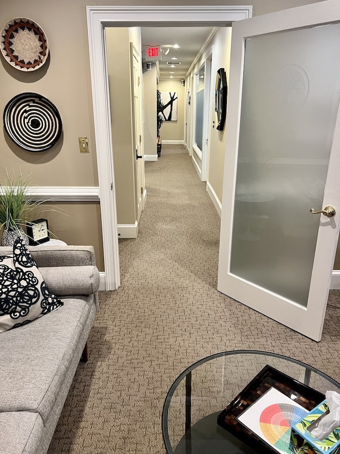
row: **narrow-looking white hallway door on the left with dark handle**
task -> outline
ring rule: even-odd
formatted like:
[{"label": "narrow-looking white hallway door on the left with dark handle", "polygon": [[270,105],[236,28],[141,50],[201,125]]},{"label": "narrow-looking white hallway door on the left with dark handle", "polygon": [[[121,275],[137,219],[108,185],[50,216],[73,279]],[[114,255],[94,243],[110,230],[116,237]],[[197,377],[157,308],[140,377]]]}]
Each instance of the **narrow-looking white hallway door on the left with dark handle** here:
[{"label": "narrow-looking white hallway door on the left with dark handle", "polygon": [[136,182],[136,216],[139,222],[144,209],[144,153],[142,145],[142,95],[141,95],[141,72],[140,57],[133,43],[131,49],[132,69],[132,97],[133,97],[133,129],[135,147],[135,182]]}]

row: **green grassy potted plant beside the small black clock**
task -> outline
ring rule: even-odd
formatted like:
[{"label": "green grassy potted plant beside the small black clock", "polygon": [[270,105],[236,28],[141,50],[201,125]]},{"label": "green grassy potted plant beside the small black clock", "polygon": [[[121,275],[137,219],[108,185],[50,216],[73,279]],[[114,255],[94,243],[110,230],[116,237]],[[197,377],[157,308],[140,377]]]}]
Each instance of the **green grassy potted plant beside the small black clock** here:
[{"label": "green grassy potted plant beside the small black clock", "polygon": [[31,174],[18,177],[5,172],[4,183],[0,183],[0,229],[3,229],[1,246],[11,246],[18,236],[28,245],[29,238],[23,227],[44,200],[33,200],[29,196]]}]

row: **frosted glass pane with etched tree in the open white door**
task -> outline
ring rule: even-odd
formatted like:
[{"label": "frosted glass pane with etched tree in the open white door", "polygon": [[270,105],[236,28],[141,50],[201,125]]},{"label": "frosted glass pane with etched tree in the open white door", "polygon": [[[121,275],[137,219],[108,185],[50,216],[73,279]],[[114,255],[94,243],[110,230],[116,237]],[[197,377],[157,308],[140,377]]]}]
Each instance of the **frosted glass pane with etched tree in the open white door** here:
[{"label": "frosted glass pane with etched tree in the open white door", "polygon": [[230,272],[306,307],[340,99],[340,24],[245,43]]}]

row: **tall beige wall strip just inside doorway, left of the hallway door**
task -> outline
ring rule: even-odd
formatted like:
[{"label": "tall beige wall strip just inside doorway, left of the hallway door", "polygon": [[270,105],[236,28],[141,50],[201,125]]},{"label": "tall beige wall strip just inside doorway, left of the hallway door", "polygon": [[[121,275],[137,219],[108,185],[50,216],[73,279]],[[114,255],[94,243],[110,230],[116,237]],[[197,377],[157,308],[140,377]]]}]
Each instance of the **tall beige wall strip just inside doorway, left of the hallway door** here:
[{"label": "tall beige wall strip just inside doorway, left of the hallway door", "polygon": [[[106,33],[110,85],[112,147],[118,224],[136,221],[135,155],[132,134],[131,64],[128,28],[109,27]],[[117,45],[119,43],[119,45]]]}]

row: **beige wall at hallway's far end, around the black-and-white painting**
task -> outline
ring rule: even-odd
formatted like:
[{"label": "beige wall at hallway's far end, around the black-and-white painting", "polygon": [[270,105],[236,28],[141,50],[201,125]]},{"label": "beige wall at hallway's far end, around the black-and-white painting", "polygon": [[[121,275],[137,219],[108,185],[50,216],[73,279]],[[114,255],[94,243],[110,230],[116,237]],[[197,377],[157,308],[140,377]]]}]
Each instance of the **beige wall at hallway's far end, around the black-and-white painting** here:
[{"label": "beige wall at hallway's far end, around the black-and-white painting", "polygon": [[177,121],[164,121],[160,128],[162,141],[184,140],[184,86],[180,80],[160,80],[157,86],[159,91],[175,91],[178,93]]}]

